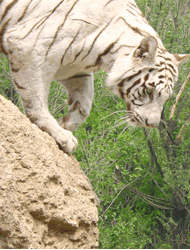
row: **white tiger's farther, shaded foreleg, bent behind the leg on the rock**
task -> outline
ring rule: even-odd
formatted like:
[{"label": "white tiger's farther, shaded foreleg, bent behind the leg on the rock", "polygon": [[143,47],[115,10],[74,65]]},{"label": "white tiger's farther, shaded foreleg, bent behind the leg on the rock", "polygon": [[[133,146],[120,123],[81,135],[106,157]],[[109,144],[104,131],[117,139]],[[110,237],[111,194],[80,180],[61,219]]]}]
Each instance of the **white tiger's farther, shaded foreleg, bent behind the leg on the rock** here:
[{"label": "white tiger's farther, shaded foreleg, bent behind the leg on the rock", "polygon": [[68,93],[69,112],[58,119],[61,127],[74,131],[90,114],[94,96],[93,73],[77,74],[66,81],[60,81]]}]

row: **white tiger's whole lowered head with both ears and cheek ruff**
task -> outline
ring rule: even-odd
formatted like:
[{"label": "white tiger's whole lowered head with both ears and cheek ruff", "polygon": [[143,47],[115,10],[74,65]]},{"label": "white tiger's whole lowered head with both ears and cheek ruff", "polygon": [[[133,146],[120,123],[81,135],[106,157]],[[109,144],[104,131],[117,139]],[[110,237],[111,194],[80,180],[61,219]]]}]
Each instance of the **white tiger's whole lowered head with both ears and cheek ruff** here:
[{"label": "white tiger's whole lowered head with both ears and cheek ruff", "polygon": [[172,96],[178,67],[190,55],[172,55],[145,37],[129,55],[121,55],[108,74],[107,85],[127,104],[127,121],[157,127],[164,103]]}]

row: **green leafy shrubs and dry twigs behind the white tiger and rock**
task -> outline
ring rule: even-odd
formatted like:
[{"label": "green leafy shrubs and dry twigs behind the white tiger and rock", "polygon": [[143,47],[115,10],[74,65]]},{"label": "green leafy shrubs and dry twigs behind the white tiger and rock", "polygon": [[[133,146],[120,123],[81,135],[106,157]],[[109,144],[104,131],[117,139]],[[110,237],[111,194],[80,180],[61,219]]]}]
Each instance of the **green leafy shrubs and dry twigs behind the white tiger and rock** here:
[{"label": "green leafy shrubs and dry twigs behind the white tiger and rock", "polygon": [[[171,53],[190,53],[190,0],[136,2]],[[7,60],[0,59],[1,93],[21,107]],[[189,72],[187,62],[157,129],[128,127],[125,103],[106,88],[105,73],[96,73],[91,115],[75,132],[74,155],[101,200],[100,248],[190,248]],[[55,117],[63,114],[65,96],[54,82]]]}]

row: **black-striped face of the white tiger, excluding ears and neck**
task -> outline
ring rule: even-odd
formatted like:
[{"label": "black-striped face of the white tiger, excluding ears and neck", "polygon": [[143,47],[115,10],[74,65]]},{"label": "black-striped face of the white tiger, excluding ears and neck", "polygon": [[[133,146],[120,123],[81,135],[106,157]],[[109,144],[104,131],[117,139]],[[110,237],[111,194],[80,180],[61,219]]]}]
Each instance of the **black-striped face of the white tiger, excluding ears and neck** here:
[{"label": "black-striped face of the white tiger, excluding ears and neck", "polygon": [[[167,72],[166,65],[139,70],[127,78],[122,89],[127,103],[127,120],[133,126],[157,127],[164,103],[172,96],[176,75]],[[176,69],[177,72],[177,69]],[[128,84],[132,87],[127,88]],[[122,84],[119,84],[121,87]],[[120,90],[122,91],[122,90]]]}]

